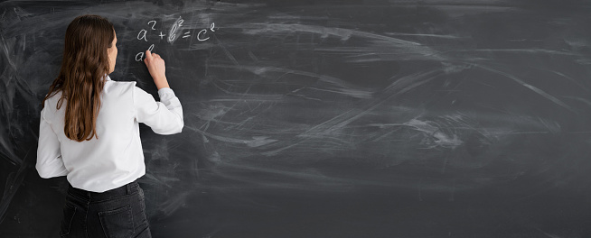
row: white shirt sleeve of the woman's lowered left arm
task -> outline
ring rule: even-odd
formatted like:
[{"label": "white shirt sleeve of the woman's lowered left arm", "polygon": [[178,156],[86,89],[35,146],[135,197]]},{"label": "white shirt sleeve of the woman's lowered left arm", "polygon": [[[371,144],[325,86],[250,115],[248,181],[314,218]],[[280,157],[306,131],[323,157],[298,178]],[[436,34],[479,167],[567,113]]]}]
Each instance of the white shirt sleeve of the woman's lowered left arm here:
[{"label": "white shirt sleeve of the woman's lowered left arm", "polygon": [[58,136],[53,132],[52,125],[43,116],[45,108],[43,108],[41,119],[39,120],[39,144],[37,147],[37,164],[35,165],[35,169],[37,169],[39,176],[42,178],[68,175],[68,169],[66,169],[63,165],[63,160],[61,160]]}]

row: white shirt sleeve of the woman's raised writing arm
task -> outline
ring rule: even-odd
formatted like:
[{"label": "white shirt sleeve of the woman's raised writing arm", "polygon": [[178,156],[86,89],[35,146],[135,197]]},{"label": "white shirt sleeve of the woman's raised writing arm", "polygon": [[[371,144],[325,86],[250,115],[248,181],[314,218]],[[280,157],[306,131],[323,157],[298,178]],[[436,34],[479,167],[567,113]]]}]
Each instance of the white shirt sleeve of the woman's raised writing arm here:
[{"label": "white shirt sleeve of the woman's raised writing arm", "polygon": [[183,130],[183,107],[173,89],[164,87],[158,90],[160,102],[139,87],[134,88],[136,120],[146,124],[159,134],[181,133]]}]

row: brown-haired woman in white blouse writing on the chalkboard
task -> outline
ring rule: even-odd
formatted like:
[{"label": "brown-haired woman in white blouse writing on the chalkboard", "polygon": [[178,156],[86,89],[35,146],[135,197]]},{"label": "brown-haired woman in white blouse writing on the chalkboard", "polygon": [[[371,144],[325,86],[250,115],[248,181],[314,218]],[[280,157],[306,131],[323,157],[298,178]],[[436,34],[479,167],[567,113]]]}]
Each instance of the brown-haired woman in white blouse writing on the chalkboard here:
[{"label": "brown-haired woman in white blouse writing on the chalkboard", "polygon": [[165,76],[164,59],[145,52],[161,102],[136,82],[116,82],[117,36],[98,15],[76,17],[66,30],[60,74],[43,99],[36,169],[67,176],[62,237],[151,237],[138,123],[180,133],[183,109]]}]

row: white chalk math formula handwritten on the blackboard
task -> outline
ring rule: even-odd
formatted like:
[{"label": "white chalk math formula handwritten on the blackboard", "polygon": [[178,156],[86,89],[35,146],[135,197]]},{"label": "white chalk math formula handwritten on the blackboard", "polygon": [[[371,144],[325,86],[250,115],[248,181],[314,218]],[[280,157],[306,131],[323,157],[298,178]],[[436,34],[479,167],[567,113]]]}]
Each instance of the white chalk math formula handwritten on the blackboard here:
[{"label": "white chalk math formula handwritten on the blackboard", "polygon": [[[191,31],[192,29],[188,29],[186,28],[184,25],[184,20],[183,18],[179,17],[174,24],[171,26],[170,30],[168,31],[168,34],[165,34],[164,32],[160,31],[158,33],[158,37],[160,37],[160,40],[164,40],[164,37],[166,39],[166,41],[168,41],[168,43],[172,44],[175,40],[177,40],[179,37],[181,37],[182,39],[184,38],[189,38],[192,36],[192,34],[194,33],[194,31]],[[146,41],[147,40],[147,34],[148,32],[156,32],[156,24],[157,22],[155,20],[151,20],[149,22],[147,22],[147,24],[150,26],[147,30],[146,29],[142,29],[141,31],[139,31],[137,33],[137,40],[138,41]],[[188,30],[187,30],[188,29]],[[204,28],[201,31],[197,32],[196,35],[196,39],[197,41],[207,41],[210,39],[210,37],[207,35],[208,32],[215,32],[215,23],[211,23],[209,28]],[[151,44],[150,47],[148,47],[147,50],[154,50],[154,44]],[[136,54],[136,61],[142,61],[145,57],[144,55],[144,51],[139,52]]]}]

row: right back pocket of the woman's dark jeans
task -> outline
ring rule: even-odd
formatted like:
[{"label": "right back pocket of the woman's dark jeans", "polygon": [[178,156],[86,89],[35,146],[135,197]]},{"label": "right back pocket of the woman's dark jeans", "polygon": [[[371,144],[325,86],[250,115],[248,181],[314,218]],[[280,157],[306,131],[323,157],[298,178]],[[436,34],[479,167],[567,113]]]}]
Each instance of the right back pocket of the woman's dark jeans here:
[{"label": "right back pocket of the woman's dark jeans", "polygon": [[134,234],[134,216],[131,206],[99,212],[100,225],[108,238],[127,238]]}]

